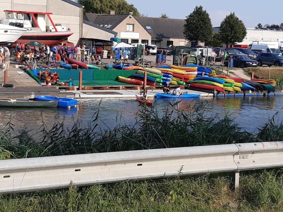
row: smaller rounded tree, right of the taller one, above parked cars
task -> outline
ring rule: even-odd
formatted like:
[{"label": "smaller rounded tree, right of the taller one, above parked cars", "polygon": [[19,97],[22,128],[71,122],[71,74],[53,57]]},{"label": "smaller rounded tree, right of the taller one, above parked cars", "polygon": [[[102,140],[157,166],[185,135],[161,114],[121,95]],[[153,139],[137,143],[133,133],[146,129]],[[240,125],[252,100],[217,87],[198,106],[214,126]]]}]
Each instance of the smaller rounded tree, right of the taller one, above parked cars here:
[{"label": "smaller rounded tree, right of the taller one, above parked cars", "polygon": [[231,13],[221,22],[219,34],[225,44],[240,43],[247,35],[246,27],[235,13]]}]

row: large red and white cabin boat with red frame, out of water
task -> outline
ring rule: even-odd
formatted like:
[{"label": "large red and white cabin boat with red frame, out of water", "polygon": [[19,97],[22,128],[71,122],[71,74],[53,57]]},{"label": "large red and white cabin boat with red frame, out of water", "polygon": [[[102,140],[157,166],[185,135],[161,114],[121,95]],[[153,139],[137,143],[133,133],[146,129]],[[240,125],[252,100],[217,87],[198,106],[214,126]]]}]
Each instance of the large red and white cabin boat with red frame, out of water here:
[{"label": "large red and white cabin boat with red frame, out of water", "polygon": [[59,45],[73,34],[67,25],[55,24],[50,12],[27,12],[4,10],[6,19],[0,19],[0,24],[25,28],[16,43],[39,41],[50,46]]}]

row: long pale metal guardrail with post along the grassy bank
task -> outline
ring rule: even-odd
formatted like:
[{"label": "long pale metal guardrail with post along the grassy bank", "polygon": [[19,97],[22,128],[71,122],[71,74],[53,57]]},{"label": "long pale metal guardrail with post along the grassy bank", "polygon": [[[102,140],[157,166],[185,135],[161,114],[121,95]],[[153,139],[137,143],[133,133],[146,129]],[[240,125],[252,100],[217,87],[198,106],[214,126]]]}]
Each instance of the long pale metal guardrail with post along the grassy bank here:
[{"label": "long pale metal guardrail with post along the grassy bank", "polygon": [[283,166],[283,142],[0,160],[0,193]]}]

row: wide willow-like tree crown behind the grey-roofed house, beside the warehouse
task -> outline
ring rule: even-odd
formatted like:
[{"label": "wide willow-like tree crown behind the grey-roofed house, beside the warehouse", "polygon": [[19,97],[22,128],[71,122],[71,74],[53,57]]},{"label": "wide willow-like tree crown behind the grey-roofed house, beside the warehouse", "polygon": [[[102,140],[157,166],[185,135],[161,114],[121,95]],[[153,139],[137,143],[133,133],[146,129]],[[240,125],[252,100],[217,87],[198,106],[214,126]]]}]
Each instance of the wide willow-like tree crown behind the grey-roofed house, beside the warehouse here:
[{"label": "wide willow-like tree crown behind the grey-roofed house, beside the warehouse", "polygon": [[128,14],[133,12],[134,16],[139,16],[139,11],[133,4],[128,4],[126,0],[78,0],[84,5],[85,13],[110,14],[115,10],[116,14]]}]

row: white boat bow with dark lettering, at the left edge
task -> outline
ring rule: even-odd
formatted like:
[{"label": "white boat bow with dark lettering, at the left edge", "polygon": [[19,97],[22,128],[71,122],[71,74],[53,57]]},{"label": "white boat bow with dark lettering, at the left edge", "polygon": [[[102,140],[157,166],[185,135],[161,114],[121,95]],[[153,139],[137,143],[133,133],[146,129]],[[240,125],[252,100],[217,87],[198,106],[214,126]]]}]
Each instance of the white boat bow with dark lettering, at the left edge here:
[{"label": "white boat bow with dark lettering, at the left edge", "polygon": [[0,24],[0,44],[1,45],[11,45],[16,42],[27,29]]}]

